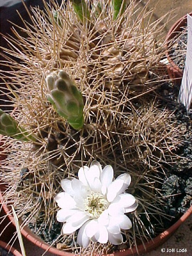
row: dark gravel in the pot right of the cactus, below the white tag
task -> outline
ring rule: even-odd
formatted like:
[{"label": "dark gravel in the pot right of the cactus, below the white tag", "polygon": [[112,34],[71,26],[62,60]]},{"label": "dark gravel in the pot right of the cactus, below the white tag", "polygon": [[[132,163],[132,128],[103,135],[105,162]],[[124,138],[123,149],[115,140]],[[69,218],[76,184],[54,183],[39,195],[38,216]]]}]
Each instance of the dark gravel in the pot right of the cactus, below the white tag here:
[{"label": "dark gravel in the pot right of the cactus, below the white tag", "polygon": [[165,212],[172,217],[169,222],[165,221],[165,228],[175,223],[192,205],[192,110],[187,112],[183,104],[177,102],[178,91],[179,86],[171,82],[163,84],[158,91],[161,107],[174,110],[177,123],[187,128],[185,140],[176,151],[180,160],[164,166],[169,171],[162,194],[167,204]]}]

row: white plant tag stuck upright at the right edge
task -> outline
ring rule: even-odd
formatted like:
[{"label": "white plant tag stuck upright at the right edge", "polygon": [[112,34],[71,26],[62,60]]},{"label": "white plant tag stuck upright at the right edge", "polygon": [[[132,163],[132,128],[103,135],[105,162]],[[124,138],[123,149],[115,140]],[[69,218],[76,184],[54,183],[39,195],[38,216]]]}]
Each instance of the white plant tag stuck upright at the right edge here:
[{"label": "white plant tag stuck upright at the right edge", "polygon": [[192,101],[192,17],[187,14],[187,53],[185,68],[181,87],[178,95],[178,102],[183,103],[187,111]]}]

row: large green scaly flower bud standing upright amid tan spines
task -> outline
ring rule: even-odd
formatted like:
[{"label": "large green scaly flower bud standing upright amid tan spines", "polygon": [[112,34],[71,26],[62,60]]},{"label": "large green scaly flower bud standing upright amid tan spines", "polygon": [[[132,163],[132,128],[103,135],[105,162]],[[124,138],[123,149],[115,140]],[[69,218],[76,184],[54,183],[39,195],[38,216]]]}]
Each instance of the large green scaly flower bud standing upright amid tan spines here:
[{"label": "large green scaly flower bud standing upright amid tan spines", "polygon": [[75,130],[80,130],[84,124],[84,103],[69,75],[63,70],[53,71],[47,76],[46,83],[49,90],[47,100]]}]

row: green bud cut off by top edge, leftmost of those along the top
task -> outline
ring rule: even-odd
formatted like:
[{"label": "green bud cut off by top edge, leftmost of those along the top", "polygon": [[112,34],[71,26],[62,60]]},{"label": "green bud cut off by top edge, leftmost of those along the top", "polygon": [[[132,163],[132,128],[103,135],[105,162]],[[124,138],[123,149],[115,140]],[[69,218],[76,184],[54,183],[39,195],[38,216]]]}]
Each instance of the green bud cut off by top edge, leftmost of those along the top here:
[{"label": "green bud cut off by top edge, leftmost of those along the top", "polygon": [[84,0],[70,0],[73,9],[79,17],[79,20],[83,23],[84,19],[90,20],[90,10]]}]

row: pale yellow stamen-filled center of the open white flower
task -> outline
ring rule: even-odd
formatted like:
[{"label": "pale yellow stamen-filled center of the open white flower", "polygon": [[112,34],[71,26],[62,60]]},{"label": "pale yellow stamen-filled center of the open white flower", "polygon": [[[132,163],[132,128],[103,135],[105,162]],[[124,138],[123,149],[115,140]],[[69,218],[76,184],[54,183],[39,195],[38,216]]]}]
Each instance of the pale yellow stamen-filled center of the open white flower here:
[{"label": "pale yellow stamen-filled center of the open white flower", "polygon": [[85,211],[89,213],[90,217],[97,219],[101,213],[109,206],[109,202],[100,193],[91,192],[84,199]]}]

